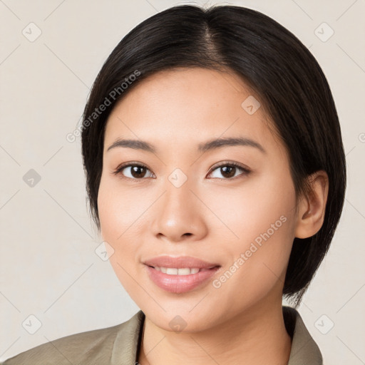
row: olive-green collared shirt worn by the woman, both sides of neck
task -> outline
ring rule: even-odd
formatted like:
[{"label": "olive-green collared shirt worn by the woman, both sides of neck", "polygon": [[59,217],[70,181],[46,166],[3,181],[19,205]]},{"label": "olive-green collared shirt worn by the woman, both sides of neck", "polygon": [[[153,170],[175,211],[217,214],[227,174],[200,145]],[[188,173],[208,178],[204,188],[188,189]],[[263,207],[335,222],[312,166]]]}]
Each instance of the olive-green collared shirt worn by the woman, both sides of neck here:
[{"label": "olive-green collared shirt worn by the woman, both sides of neck", "polygon": [[[322,365],[322,355],[297,310],[283,307],[292,337],[288,365]],[[41,344],[7,359],[2,365],[136,365],[145,314],[104,329],[81,332]]]}]

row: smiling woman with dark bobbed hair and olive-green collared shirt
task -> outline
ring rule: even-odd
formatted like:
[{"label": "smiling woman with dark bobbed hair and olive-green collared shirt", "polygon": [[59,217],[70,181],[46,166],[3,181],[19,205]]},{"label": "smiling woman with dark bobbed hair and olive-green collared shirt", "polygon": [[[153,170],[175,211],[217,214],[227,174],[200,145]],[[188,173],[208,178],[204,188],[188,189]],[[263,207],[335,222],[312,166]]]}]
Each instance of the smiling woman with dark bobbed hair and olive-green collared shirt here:
[{"label": "smiling woman with dark bobbed hair and olive-green collared shirt", "polygon": [[295,307],[346,166],[329,85],[293,34],[238,6],[162,11],[110,54],[81,129],[93,219],[141,310],[4,364],[322,364]]}]

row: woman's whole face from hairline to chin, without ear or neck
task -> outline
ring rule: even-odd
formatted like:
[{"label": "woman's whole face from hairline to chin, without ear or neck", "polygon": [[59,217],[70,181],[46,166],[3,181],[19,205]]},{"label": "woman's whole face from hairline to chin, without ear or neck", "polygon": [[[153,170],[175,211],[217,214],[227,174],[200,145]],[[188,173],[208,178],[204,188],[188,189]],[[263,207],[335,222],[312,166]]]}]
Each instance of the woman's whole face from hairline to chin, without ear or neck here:
[{"label": "woman's whole face from hairline to chin, without ear or neck", "polygon": [[[237,76],[191,68],[150,76],[110,113],[101,234],[123,287],[160,328],[201,331],[281,306],[296,199],[257,102]],[[135,142],[110,148],[117,140]]]}]

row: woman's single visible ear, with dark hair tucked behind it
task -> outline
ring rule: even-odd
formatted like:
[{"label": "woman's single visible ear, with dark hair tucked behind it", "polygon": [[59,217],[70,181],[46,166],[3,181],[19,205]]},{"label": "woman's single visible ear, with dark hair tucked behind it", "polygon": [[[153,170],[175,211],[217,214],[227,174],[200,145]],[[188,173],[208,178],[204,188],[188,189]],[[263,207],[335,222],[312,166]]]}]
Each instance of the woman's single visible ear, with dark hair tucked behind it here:
[{"label": "woman's single visible ear, with dark hair tucked behind it", "polygon": [[325,171],[319,170],[309,175],[312,192],[302,197],[297,210],[295,237],[307,238],[315,235],[322,227],[326,211],[329,180]]}]

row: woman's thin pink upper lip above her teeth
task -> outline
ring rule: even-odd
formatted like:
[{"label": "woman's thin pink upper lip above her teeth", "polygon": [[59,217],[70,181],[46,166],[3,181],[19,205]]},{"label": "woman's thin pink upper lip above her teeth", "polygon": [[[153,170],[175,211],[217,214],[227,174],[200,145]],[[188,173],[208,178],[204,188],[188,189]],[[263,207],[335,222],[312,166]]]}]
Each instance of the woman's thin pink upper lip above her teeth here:
[{"label": "woman's thin pink upper lip above her teeth", "polygon": [[185,267],[197,267],[199,269],[210,269],[211,267],[220,266],[214,262],[207,262],[201,259],[190,256],[158,256],[148,259],[144,264],[153,267],[175,267],[176,269],[183,269]]}]

